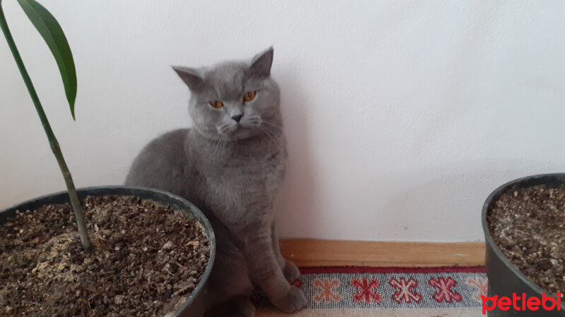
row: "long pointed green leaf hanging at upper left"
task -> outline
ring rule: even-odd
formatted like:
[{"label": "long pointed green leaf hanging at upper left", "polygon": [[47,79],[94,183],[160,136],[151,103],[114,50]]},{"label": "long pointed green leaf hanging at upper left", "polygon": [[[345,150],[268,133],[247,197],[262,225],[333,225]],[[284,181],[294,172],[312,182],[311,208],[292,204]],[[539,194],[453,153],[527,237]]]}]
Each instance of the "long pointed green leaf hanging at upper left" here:
[{"label": "long pointed green leaf hanging at upper left", "polygon": [[71,115],[75,119],[75,99],[76,99],[76,69],[75,62],[73,61],[73,54],[71,47],[67,42],[61,25],[55,20],[54,16],[47,11],[41,4],[35,0],[18,0],[18,3],[23,8],[23,11],[31,23],[35,26],[40,35],[43,37],[47,46],[51,50],[59,72],[63,79],[65,87],[66,99],[69,101],[71,107]]}]

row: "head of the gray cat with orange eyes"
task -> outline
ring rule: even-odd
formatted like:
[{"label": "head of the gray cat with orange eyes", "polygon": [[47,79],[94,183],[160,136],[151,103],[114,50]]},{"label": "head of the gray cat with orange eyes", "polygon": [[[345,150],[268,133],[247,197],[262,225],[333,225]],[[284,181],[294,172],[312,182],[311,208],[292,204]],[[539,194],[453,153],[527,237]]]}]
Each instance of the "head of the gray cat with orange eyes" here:
[{"label": "head of the gray cat with orange eyes", "polygon": [[237,140],[280,126],[280,92],[270,77],[273,48],[251,62],[210,68],[173,67],[189,86],[189,113],[198,132],[210,139]]}]

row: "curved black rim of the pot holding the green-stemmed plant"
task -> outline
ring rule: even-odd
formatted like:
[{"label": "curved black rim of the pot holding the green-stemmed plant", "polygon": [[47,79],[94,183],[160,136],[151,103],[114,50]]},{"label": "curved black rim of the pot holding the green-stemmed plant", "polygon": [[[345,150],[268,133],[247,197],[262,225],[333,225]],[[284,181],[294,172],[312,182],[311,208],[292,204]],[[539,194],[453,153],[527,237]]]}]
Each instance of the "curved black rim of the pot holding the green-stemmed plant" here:
[{"label": "curved black rim of the pot holding the green-stemmed plant", "polygon": [[[134,192],[154,192],[154,193],[157,193],[159,195],[169,197],[173,200],[176,200],[179,205],[184,205],[186,207],[189,207],[189,209],[190,209],[189,212],[194,215],[194,219],[196,221],[198,221],[198,223],[201,223],[201,225],[203,225],[203,227],[206,228],[206,230],[208,231],[208,242],[210,244],[210,256],[208,257],[208,264],[206,264],[206,269],[204,270],[204,273],[201,276],[200,282],[198,282],[198,285],[196,285],[196,287],[194,288],[194,291],[191,292],[189,298],[186,299],[184,304],[182,304],[182,306],[180,306],[179,309],[177,309],[177,311],[174,311],[173,316],[180,316],[183,313],[184,309],[189,307],[194,302],[194,299],[198,295],[201,295],[201,293],[203,292],[204,287],[206,285],[206,282],[208,282],[208,278],[210,277],[210,273],[212,271],[212,266],[213,266],[214,260],[215,260],[216,238],[215,238],[215,234],[214,234],[214,230],[212,228],[212,225],[210,224],[210,220],[208,220],[208,218],[204,215],[204,213],[202,213],[202,211],[200,209],[198,209],[198,207],[194,206],[194,204],[192,204],[190,201],[188,201],[188,200],[186,200],[186,199],[184,199],[184,198],[182,198],[182,197],[180,197],[176,194],[172,194],[170,192],[165,192],[164,190],[160,190],[160,189],[154,189],[154,188],[149,188],[149,187],[123,186],[123,185],[91,186],[91,187],[81,187],[81,188],[76,189],[76,192],[77,192],[77,194],[79,194],[79,197],[81,196],[81,194],[83,192],[86,195],[90,195],[90,194],[98,195],[98,196],[111,195],[112,193],[110,193],[108,191],[116,191],[116,193],[114,193],[115,195],[123,195],[123,196],[136,196],[136,194]],[[129,194],[126,194],[126,191],[131,191],[131,192]],[[108,192],[108,193],[105,193],[105,192]],[[123,192],[123,193],[120,193],[120,192]],[[45,195],[42,195],[40,197],[28,199],[28,200],[20,202],[19,204],[15,204],[11,207],[8,207],[6,209],[1,209],[0,215],[2,215],[3,213],[5,213],[7,211],[11,211],[13,209],[16,209],[16,208],[18,208],[18,206],[21,206],[21,205],[24,205],[24,204],[34,204],[34,203],[37,203],[38,201],[48,200],[51,197],[68,195],[68,193],[69,193],[68,191],[64,190],[64,191],[61,191],[61,192],[54,192],[52,194],[45,194]],[[46,204],[49,204],[49,202],[47,202]],[[165,312],[165,313],[167,313],[167,312]]]}]

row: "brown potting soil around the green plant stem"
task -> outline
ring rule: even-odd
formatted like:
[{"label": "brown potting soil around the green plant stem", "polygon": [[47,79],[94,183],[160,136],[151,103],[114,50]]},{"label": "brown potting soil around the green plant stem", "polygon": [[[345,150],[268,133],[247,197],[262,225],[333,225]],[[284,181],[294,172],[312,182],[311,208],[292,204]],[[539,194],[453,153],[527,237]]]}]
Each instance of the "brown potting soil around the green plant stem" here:
[{"label": "brown potting soil around the green plant stem", "polygon": [[208,263],[191,218],[137,197],[87,197],[93,252],[69,204],[18,211],[0,225],[0,316],[162,316]]}]

